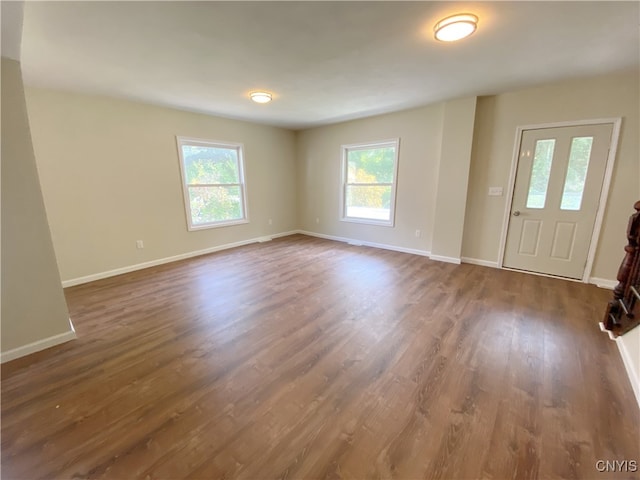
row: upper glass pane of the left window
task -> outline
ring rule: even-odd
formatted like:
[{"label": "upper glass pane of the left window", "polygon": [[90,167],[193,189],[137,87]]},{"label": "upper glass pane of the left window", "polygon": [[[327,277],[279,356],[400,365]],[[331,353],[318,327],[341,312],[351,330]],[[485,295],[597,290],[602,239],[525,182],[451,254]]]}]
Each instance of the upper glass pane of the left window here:
[{"label": "upper glass pane of the left window", "polygon": [[235,148],[182,145],[188,185],[240,183]]}]

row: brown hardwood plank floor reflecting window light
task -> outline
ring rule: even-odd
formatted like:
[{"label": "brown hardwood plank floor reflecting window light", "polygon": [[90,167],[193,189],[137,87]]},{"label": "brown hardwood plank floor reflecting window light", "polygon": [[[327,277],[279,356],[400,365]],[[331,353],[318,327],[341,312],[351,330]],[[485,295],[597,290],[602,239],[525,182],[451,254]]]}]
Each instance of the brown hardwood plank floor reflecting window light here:
[{"label": "brown hardwood plank floor reflecting window light", "polygon": [[301,235],[66,290],[2,478],[638,478],[610,292]]}]

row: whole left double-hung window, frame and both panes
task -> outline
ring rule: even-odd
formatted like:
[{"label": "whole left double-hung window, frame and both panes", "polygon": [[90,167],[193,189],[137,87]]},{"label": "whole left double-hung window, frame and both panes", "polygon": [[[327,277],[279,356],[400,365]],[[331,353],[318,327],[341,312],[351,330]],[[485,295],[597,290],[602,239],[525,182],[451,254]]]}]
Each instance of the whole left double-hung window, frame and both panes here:
[{"label": "whole left double-hung window, frame and both panes", "polygon": [[247,222],[242,145],[178,137],[189,230]]}]

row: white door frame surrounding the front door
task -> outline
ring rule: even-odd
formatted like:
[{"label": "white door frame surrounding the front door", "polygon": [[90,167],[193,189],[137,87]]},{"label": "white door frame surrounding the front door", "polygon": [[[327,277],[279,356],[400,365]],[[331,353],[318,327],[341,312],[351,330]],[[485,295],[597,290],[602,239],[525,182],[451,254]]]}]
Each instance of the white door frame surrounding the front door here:
[{"label": "white door frame surrounding the front door", "polygon": [[[507,233],[509,231],[509,221],[511,219],[511,204],[513,203],[513,191],[516,184],[516,173],[518,171],[518,162],[520,159],[520,147],[522,142],[522,134],[525,130],[540,130],[543,128],[559,128],[559,127],[578,127],[583,125],[597,125],[602,123],[608,123],[613,125],[611,132],[611,143],[609,145],[609,154],[607,155],[607,165],[604,171],[604,179],[602,181],[602,190],[600,190],[600,198],[598,200],[598,210],[596,212],[596,221],[593,225],[593,232],[591,233],[591,243],[589,244],[589,252],[587,254],[587,263],[582,273],[582,282],[589,283],[591,278],[591,270],[593,268],[593,260],[596,254],[596,248],[598,247],[598,240],[600,238],[600,230],[602,229],[602,222],[604,219],[604,211],[607,205],[607,199],[609,198],[609,187],[611,186],[611,179],[613,177],[613,166],[616,160],[616,152],[618,150],[618,140],[620,138],[620,128],[622,125],[622,117],[612,118],[595,118],[591,120],[577,120],[567,122],[552,122],[552,123],[540,123],[535,125],[520,125],[516,127],[516,138],[513,147],[513,157],[511,159],[511,171],[509,172],[509,184],[507,187],[507,197],[505,202],[504,216],[502,219],[502,233],[500,235],[500,250],[498,251],[498,268],[507,269],[503,265],[505,247],[507,243]],[[534,275],[544,275],[547,277],[556,277],[555,275],[547,275],[539,272],[528,272],[525,270],[518,270],[519,272],[530,273]],[[564,278],[565,277],[556,277]]]}]

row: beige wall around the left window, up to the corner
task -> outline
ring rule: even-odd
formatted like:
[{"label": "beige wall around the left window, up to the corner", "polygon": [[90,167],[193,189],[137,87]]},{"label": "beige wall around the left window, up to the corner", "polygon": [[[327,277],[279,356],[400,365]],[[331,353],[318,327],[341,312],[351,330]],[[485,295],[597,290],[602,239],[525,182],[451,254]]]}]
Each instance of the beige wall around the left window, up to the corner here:
[{"label": "beige wall around the left window, up to the corner", "polygon": [[[105,97],[26,90],[63,280],[297,228],[293,132]],[[244,144],[248,224],[187,231],[176,135]],[[144,241],[144,249],[136,249],[136,240]]]}]

